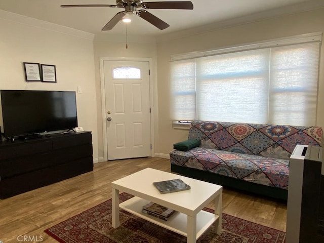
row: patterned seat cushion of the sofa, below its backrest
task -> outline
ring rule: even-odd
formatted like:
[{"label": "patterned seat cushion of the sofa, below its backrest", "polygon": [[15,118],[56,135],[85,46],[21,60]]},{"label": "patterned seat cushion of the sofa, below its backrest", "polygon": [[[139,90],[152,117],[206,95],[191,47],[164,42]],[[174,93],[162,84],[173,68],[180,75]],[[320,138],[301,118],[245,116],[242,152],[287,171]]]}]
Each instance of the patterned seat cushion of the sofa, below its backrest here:
[{"label": "patterned seat cushion of the sofa, below its backrest", "polygon": [[196,147],[170,153],[171,164],[288,189],[289,160]]}]

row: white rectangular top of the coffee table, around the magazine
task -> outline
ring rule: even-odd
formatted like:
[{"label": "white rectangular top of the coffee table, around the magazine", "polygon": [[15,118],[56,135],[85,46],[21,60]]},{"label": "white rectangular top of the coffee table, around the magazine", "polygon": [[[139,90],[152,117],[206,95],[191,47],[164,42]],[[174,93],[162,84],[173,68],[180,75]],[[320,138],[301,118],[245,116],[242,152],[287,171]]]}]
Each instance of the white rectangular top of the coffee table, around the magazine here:
[{"label": "white rectangular top of the coffee table, around the magazine", "polygon": [[[157,181],[177,178],[183,180],[191,189],[161,194],[152,184]],[[132,175],[113,181],[111,186],[120,191],[126,191],[148,200],[154,200],[156,203],[163,203],[166,207],[187,214],[196,214],[204,208],[206,201],[211,201],[215,198],[216,194],[222,191],[222,186],[220,185],[151,168],[146,168]]]}]

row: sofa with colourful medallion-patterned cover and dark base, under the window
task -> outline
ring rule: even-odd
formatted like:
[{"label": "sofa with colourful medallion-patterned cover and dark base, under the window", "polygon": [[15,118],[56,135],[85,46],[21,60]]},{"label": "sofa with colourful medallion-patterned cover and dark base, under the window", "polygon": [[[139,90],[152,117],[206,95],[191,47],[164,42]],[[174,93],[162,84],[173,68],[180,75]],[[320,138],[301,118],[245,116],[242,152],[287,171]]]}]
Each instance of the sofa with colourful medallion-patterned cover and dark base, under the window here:
[{"label": "sofa with colourful medallion-patterned cover and dark base, under the window", "polygon": [[170,152],[171,171],[287,200],[289,158],[297,144],[321,146],[322,128],[194,120],[189,151]]}]

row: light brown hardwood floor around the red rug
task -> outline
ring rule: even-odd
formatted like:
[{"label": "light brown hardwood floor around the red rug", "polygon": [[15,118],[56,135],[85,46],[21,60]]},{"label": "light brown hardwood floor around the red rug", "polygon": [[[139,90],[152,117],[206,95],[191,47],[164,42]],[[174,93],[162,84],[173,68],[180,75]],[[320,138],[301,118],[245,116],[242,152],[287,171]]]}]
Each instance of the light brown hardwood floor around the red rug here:
[{"label": "light brown hardwood floor around the red rug", "polygon": [[[35,239],[24,242],[57,242],[44,230],[111,198],[112,181],[147,167],[170,172],[170,160],[136,158],[97,163],[93,172],[0,200],[0,242],[16,243],[19,235]],[[287,205],[280,201],[224,188],[223,212],[286,231]]]}]

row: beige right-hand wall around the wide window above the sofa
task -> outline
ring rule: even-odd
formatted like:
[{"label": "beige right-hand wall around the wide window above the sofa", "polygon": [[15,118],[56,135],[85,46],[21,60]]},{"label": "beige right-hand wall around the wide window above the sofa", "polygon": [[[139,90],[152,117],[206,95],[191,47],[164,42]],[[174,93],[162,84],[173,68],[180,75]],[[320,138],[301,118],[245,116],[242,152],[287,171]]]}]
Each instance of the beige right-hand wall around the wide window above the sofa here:
[{"label": "beige right-hand wall around the wide window above the sofa", "polygon": [[[187,130],[172,128],[170,119],[169,60],[173,54],[187,53],[225,46],[240,45],[311,32],[324,32],[324,9],[288,15],[263,21],[218,29],[166,42],[157,43],[157,89],[159,109],[158,151],[169,154],[175,142],[185,140]],[[324,127],[324,48],[321,47],[319,69],[317,124]]]}]

